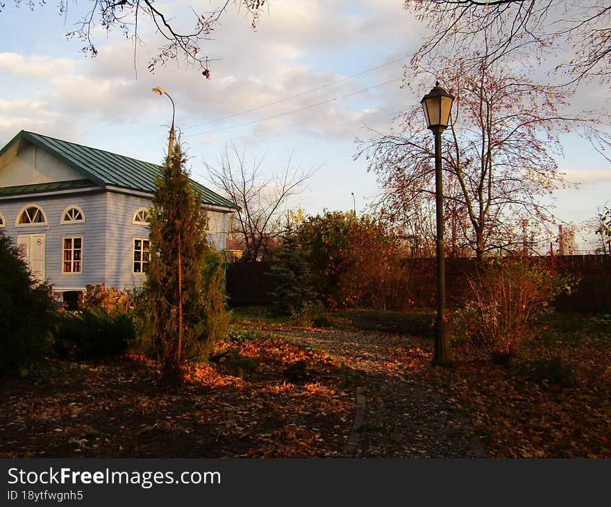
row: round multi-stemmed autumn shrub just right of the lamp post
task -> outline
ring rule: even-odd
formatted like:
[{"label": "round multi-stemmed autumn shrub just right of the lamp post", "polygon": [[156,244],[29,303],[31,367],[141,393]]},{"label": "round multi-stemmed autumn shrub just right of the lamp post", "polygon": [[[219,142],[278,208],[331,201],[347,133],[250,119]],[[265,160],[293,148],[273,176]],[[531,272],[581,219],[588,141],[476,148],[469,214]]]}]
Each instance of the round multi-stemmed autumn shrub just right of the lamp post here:
[{"label": "round multi-stemmed autumn shrub just right of the lamp post", "polygon": [[504,362],[524,340],[533,324],[549,312],[553,299],[570,292],[576,280],[549,265],[528,258],[494,258],[469,278],[464,306],[455,313],[457,338]]}]

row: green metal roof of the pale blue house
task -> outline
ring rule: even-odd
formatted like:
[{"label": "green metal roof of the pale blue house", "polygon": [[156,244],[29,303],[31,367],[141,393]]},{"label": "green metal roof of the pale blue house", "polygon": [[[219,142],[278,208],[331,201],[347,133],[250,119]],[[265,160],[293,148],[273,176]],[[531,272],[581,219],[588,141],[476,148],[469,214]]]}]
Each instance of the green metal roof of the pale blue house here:
[{"label": "green metal roof of the pale blue house", "polygon": [[[110,151],[81,146],[81,144],[76,144],[74,142],[49,138],[47,135],[28,131],[21,131],[15,138],[12,138],[12,140],[0,150],[0,156],[19,139],[31,142],[37,147],[48,151],[59,160],[62,160],[62,162],[83,174],[85,178],[102,187],[115,186],[152,194],[155,192],[156,188],[155,178],[160,174],[162,169],[162,166],[157,164],[143,162],[142,160],[118,155]],[[194,188],[201,192],[202,202],[204,204],[235,209],[235,204],[228,199],[225,199],[216,192],[212,192],[212,190],[194,180],[191,180],[191,182]],[[22,185],[22,187],[28,188],[32,188],[33,186],[38,185]],[[8,192],[15,192],[15,190],[12,189],[16,188],[17,187],[9,187]],[[37,191],[44,192],[49,190],[51,189]],[[63,189],[57,188],[55,190]]]}]

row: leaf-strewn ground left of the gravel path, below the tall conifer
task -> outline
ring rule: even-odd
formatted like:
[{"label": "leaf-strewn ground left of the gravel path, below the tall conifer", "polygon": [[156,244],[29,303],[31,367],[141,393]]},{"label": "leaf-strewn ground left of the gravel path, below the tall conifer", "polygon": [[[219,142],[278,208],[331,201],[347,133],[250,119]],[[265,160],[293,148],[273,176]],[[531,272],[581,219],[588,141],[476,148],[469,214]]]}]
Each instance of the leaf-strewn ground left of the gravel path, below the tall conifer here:
[{"label": "leaf-strewn ground left of the gravel path, below the tall conifer", "polygon": [[[353,396],[333,362],[273,338],[232,347],[239,360],[201,367],[178,394],[137,358],[3,383],[0,457],[340,456]],[[290,383],[283,371],[302,359],[308,378]]]}]

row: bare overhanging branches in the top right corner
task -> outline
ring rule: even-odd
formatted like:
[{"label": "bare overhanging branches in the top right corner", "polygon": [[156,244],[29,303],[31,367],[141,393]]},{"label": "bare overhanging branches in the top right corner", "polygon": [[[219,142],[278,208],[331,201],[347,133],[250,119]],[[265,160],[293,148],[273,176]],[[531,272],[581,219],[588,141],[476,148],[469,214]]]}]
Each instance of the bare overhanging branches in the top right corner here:
[{"label": "bare overhanging branches in the top right corner", "polygon": [[466,53],[479,47],[483,32],[498,33],[491,58],[560,49],[556,69],[571,81],[611,77],[609,0],[405,0],[405,8],[433,30],[419,58],[442,46]]}]

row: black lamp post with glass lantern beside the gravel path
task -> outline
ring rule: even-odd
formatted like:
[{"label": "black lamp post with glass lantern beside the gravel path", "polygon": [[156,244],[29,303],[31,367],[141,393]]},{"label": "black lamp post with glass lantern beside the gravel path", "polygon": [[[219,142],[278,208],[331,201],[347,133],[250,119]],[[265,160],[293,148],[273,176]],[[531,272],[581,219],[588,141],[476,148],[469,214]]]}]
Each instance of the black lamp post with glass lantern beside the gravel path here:
[{"label": "black lamp post with glass lantern beside the gravel path", "polygon": [[433,365],[452,364],[450,342],[446,330],[446,269],[444,244],[444,188],[442,185],[442,132],[449,124],[454,96],[439,82],[420,101],[426,126],[435,135],[435,208],[437,212],[437,319],[435,321],[435,354]]}]

